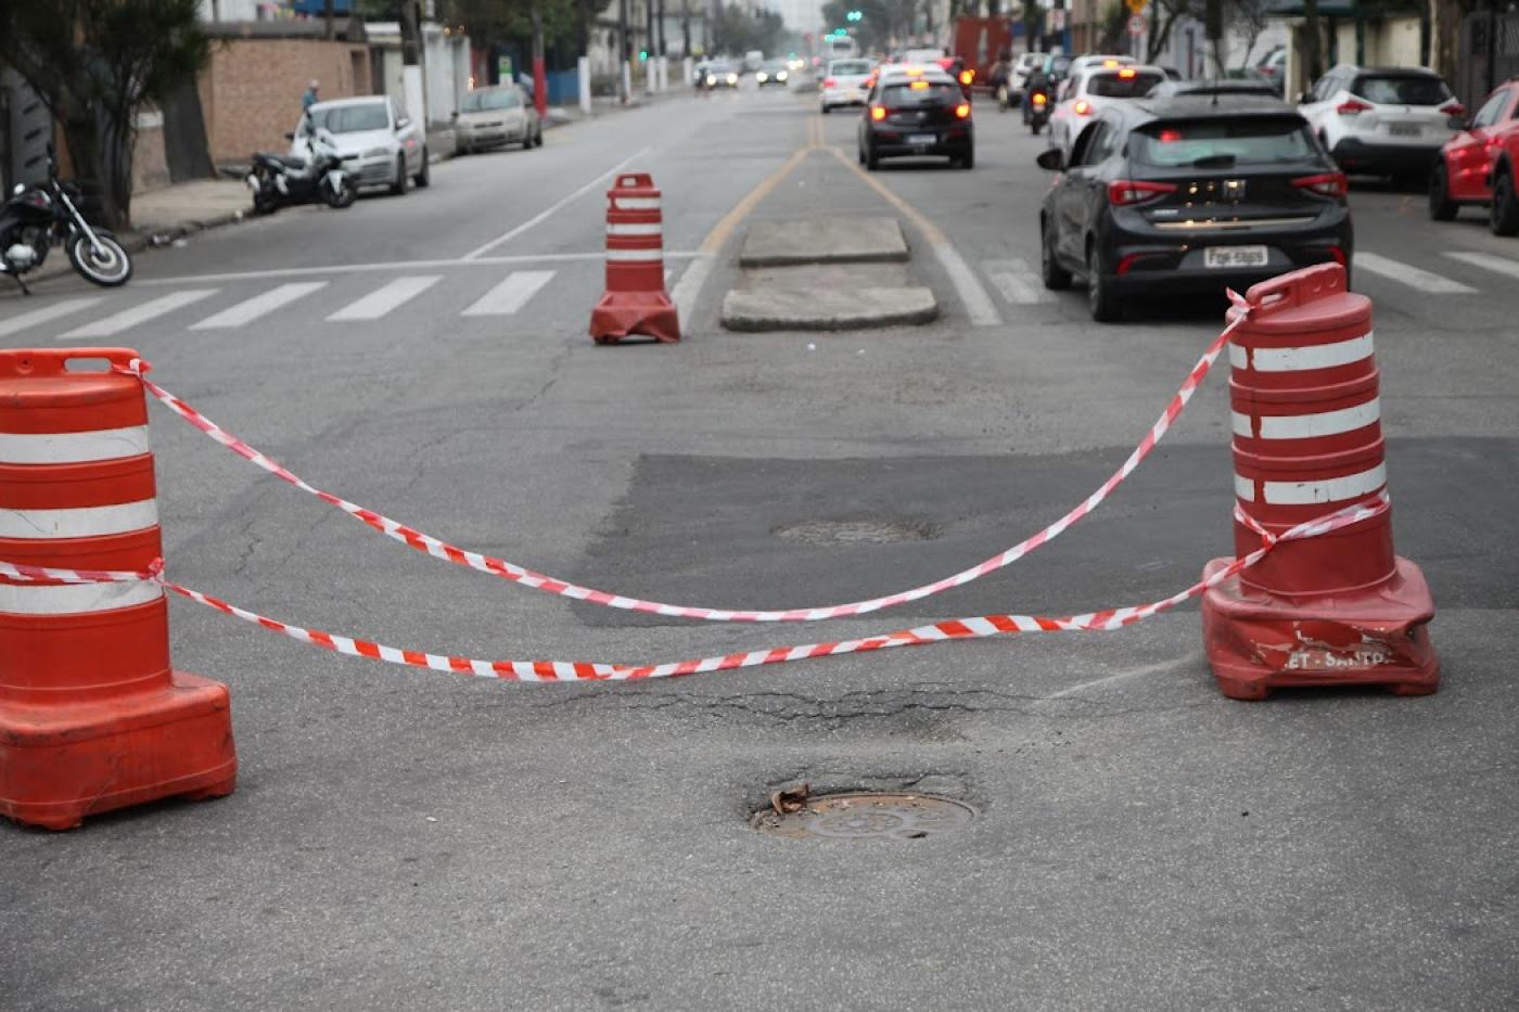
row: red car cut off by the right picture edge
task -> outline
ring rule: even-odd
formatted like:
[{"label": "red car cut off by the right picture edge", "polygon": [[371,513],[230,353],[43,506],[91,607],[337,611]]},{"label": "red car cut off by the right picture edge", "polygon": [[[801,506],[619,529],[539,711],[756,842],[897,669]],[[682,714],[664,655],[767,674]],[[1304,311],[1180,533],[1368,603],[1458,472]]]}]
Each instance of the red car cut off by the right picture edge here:
[{"label": "red car cut off by the right picture edge", "polygon": [[1486,204],[1495,236],[1519,232],[1519,77],[1483,102],[1466,128],[1440,149],[1429,173],[1429,217],[1449,222],[1463,204]]}]

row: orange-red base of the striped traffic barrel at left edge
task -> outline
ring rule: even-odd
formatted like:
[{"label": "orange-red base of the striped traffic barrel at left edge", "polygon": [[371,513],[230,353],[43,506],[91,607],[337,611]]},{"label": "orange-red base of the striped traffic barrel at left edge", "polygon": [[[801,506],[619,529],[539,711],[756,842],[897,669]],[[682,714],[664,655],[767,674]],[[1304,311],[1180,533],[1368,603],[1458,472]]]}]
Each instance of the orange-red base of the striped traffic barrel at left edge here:
[{"label": "orange-red base of the striped traffic barrel at left edge", "polygon": [[170,684],[108,700],[0,705],[0,814],[47,830],[156,801],[232,793],[237,752],[226,685]]}]

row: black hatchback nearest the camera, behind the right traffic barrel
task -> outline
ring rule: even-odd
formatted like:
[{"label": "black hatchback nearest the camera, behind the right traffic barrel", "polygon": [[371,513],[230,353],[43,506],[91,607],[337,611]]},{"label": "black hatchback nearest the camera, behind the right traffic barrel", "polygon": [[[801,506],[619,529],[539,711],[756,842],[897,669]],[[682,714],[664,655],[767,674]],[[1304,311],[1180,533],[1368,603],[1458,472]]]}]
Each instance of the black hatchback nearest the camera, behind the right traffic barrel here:
[{"label": "black hatchback nearest the camera, behind the right traffic barrel", "polygon": [[1039,210],[1047,289],[1083,275],[1100,322],[1138,292],[1244,290],[1315,263],[1350,266],[1344,173],[1274,99],[1116,103],[1089,123]]}]

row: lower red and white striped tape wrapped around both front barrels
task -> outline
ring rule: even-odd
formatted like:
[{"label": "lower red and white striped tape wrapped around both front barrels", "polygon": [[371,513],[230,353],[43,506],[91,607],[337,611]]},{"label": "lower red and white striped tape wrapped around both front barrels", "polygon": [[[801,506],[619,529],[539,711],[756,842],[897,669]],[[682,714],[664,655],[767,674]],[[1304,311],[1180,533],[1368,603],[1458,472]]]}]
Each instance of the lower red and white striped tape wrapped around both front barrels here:
[{"label": "lower red and white striped tape wrapped around both front barrels", "polygon": [[[193,602],[213,608],[225,615],[232,615],[234,618],[242,618],[243,621],[252,623],[270,632],[278,632],[299,643],[307,643],[311,646],[331,650],[334,653],[345,653],[348,656],[365,656],[377,661],[387,661],[390,664],[403,664],[407,667],[422,667],[433,672],[451,672],[456,675],[471,675],[480,678],[497,678],[507,681],[523,681],[523,682],[564,682],[564,681],[629,681],[629,679],[644,679],[644,678],[679,678],[684,675],[697,675],[703,672],[725,672],[741,667],[760,667],[763,664],[785,664],[788,661],[801,661],[816,656],[838,656],[843,653],[864,653],[870,650],[887,650],[892,647],[902,646],[927,646],[930,643],[945,643],[949,640],[974,640],[983,637],[995,635],[1013,635],[1021,632],[1106,632],[1112,629],[1121,629],[1124,626],[1132,626],[1138,621],[1150,618],[1161,614],[1162,611],[1170,611],[1177,605],[1182,605],[1194,597],[1203,594],[1209,587],[1215,587],[1223,580],[1241,573],[1243,570],[1255,565],[1264,559],[1271,550],[1274,550],[1282,541],[1294,541],[1300,538],[1317,538],[1320,535],[1340,530],[1341,527],[1349,527],[1350,524],[1358,524],[1364,520],[1370,520],[1390,508],[1390,500],[1385,489],[1376,495],[1376,498],[1367,503],[1355,503],[1344,509],[1335,511],[1320,520],[1311,520],[1296,527],[1285,530],[1281,535],[1271,535],[1256,524],[1261,530],[1261,547],[1235,559],[1227,567],[1218,570],[1211,577],[1200,580],[1189,588],[1173,594],[1171,597],[1151,602],[1148,605],[1139,605],[1132,608],[1113,608],[1106,611],[1086,612],[1082,615],[1069,615],[1065,618],[1047,618],[1042,615],[980,615],[975,618],[951,618],[946,621],[936,621],[927,626],[917,626],[913,629],[899,629],[896,632],[887,632],[884,635],[864,637],[858,640],[835,640],[826,643],[808,643],[802,646],[790,647],[773,647],[767,650],[746,650],[743,653],[728,653],[723,656],[708,656],[693,661],[673,661],[665,664],[606,664],[606,663],[591,663],[591,661],[480,661],[465,656],[451,656],[444,653],[427,653],[422,650],[404,650],[399,647],[386,646],[383,643],[375,643],[372,640],[357,640],[352,637],[334,635],[331,632],[322,632],[321,629],[305,629],[302,626],[295,626],[276,618],[269,618],[260,615],[258,612],[248,611],[246,608],[238,608],[211,594],[204,594],[188,587],[181,587],[164,577],[163,564],[155,562],[153,568],[147,573],[129,574],[131,579],[152,579],[161,583],[166,590],[187,597]],[[1235,517],[1241,523],[1252,523],[1250,518],[1235,504]],[[11,567],[12,570],[20,568],[36,568],[36,567],[17,567],[15,564],[0,562],[0,567]],[[120,576],[120,574],[118,574]],[[26,579],[26,577],[23,577]],[[112,580],[115,577],[112,576]],[[103,579],[85,580],[82,582],[112,582]]]}]

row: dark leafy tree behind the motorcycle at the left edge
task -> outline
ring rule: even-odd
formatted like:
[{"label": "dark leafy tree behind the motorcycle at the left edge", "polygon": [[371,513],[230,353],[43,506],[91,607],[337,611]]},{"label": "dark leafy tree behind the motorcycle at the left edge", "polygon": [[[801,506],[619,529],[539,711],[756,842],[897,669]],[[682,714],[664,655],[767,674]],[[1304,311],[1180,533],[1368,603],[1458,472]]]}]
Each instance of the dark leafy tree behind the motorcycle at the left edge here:
[{"label": "dark leafy tree behind the motorcycle at the left edge", "polygon": [[64,131],[79,178],[100,185],[106,225],[132,208],[137,114],[205,65],[199,0],[0,3],[0,62],[11,64]]}]

